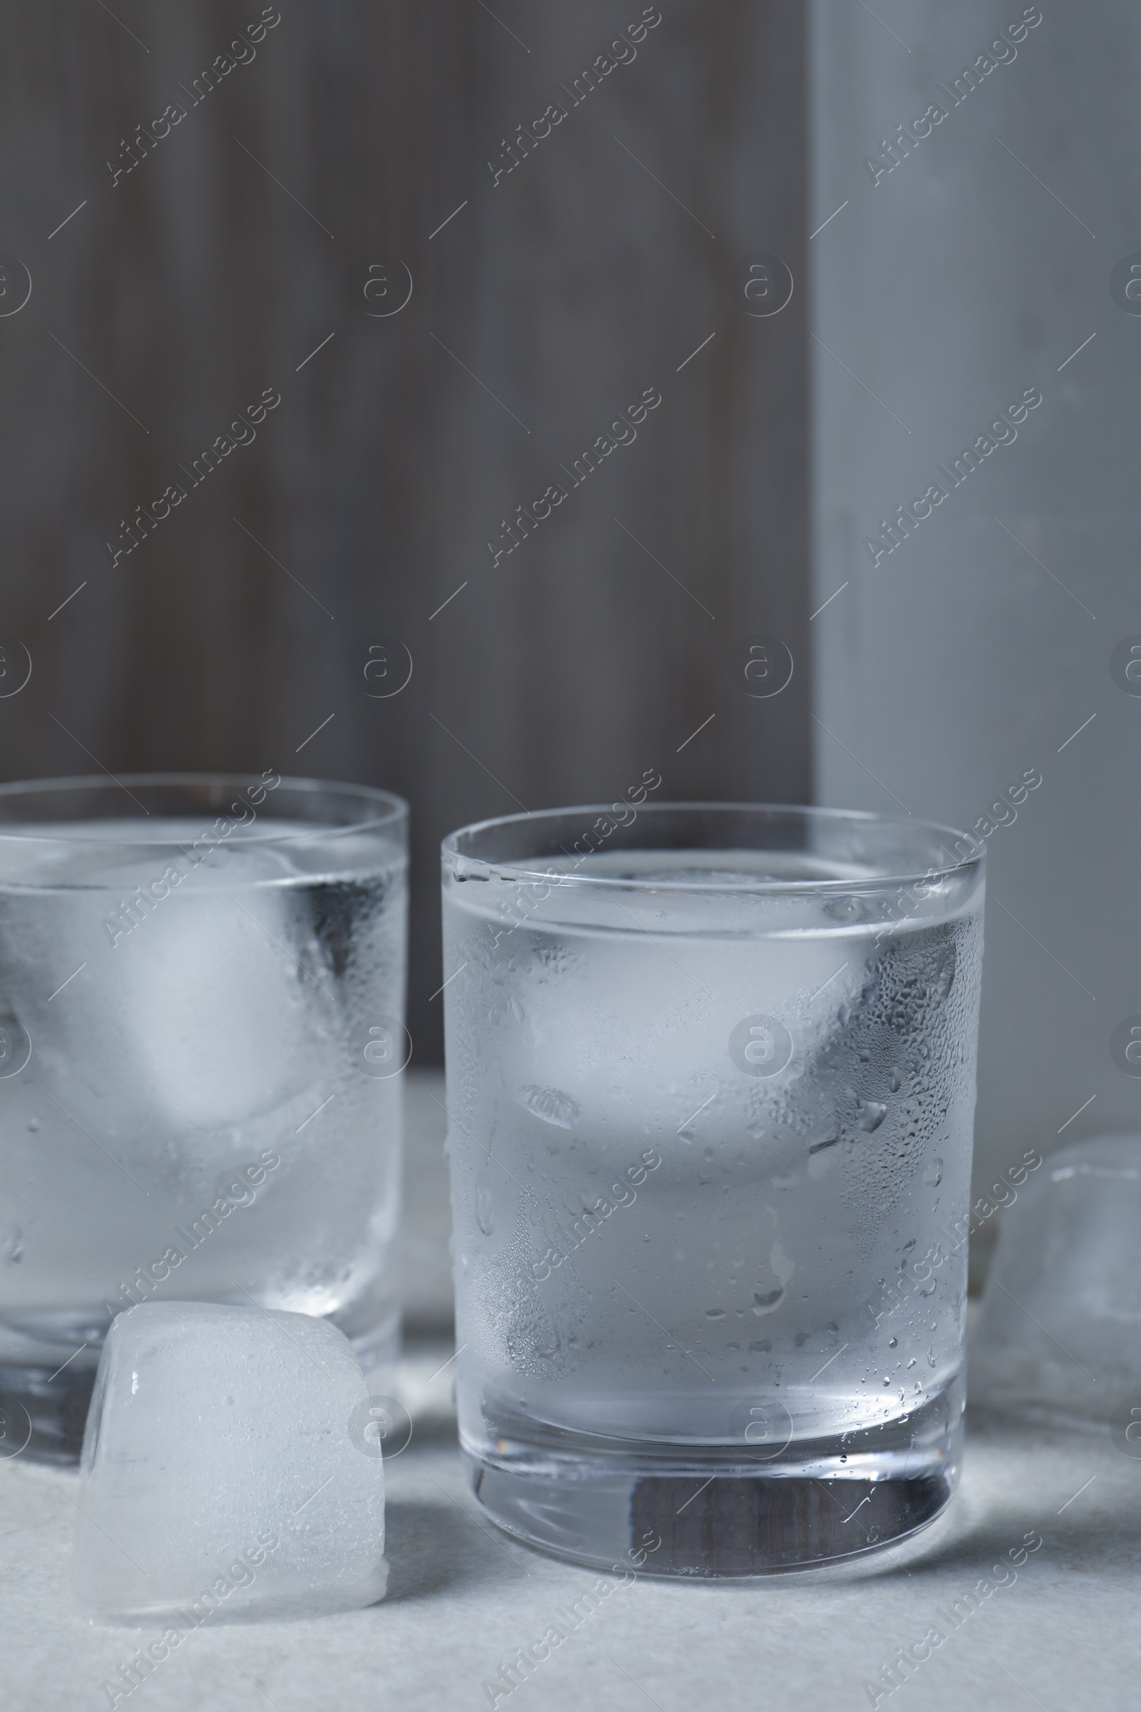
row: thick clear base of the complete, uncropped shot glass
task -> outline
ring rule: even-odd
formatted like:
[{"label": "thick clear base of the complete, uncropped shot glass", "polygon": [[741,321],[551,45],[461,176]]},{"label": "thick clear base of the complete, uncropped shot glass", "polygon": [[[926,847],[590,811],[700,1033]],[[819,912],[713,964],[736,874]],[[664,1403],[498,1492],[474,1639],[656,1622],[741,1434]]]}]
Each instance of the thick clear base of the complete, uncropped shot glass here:
[{"label": "thick clear base of the complete, uncropped shot glass", "polygon": [[715,1580],[825,1568],[917,1534],[958,1484],[961,1419],[955,1383],[905,1424],[773,1460],[744,1445],[571,1447],[551,1430],[464,1450],[481,1508],[517,1539],[599,1570]]}]

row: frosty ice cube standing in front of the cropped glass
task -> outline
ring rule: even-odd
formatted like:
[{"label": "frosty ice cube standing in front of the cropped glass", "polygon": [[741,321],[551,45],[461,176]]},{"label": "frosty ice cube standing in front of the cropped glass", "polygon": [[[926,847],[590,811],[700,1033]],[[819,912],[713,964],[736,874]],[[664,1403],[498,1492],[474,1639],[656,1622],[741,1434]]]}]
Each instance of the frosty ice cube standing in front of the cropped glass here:
[{"label": "frosty ice cube standing in front of the cropped glass", "polygon": [[369,1394],[304,1313],[142,1303],[87,1416],[72,1585],[106,1623],[308,1616],[385,1592]]}]

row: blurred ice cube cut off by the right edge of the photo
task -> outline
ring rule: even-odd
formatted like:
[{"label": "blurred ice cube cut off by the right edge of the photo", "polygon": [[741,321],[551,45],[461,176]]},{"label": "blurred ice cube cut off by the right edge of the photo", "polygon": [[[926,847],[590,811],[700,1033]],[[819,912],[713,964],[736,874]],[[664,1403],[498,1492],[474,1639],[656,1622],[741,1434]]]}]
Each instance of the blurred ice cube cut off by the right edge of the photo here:
[{"label": "blurred ice cube cut off by the right edge of the photo", "polygon": [[1114,1421],[1141,1400],[1141,1135],[1052,1154],[1002,1212],[972,1402]]}]

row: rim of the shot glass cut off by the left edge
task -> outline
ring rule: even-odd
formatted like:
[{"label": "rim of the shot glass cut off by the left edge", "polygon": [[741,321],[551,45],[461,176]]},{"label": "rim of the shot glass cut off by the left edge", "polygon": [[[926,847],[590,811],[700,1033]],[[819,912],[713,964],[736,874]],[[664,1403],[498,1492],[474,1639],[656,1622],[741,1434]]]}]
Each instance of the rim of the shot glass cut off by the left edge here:
[{"label": "rim of the shot glass cut off by the left edge", "polygon": [[[65,791],[65,789],[98,788],[111,793],[118,786],[120,789],[127,789],[127,794],[130,796],[128,789],[130,786],[139,786],[140,789],[145,789],[147,786],[164,786],[164,788],[221,786],[224,791],[231,789],[239,791],[239,789],[248,789],[250,786],[263,786],[263,784],[265,781],[262,774],[257,772],[157,770],[157,772],[120,772],[113,776],[87,772],[87,774],[67,774],[46,779],[9,779],[3,784],[0,784],[0,811],[3,810],[7,801],[10,801],[15,796],[21,796],[22,793],[26,793],[29,800],[34,800],[38,793],[48,796],[53,791]],[[298,774],[279,774],[277,786],[274,786],[274,789],[281,789],[282,786],[294,791],[342,793],[349,798],[371,801],[376,805],[378,810],[383,806],[383,811],[371,815],[366,813],[352,822],[346,822],[344,825],[322,827],[320,830],[323,839],[346,837],[356,832],[375,832],[380,829],[400,829],[402,825],[407,825],[409,820],[407,801],[402,796],[397,796],[395,791],[385,791],[375,784],[351,784],[340,779],[313,779]],[[257,808],[260,810],[262,805],[257,805]],[[193,815],[193,805],[188,805],[186,815],[188,817]],[[0,842],[3,841],[19,841],[21,844],[82,844],[84,841],[94,842],[91,837],[84,839],[84,827],[91,825],[92,818],[96,817],[86,815],[70,820],[48,820],[48,822],[44,820],[19,822],[19,820],[0,818]],[[132,817],[125,815],[123,818],[127,820]],[[34,830],[31,830],[33,827]],[[315,835],[313,830],[269,832],[269,834],[248,832],[243,837],[243,844],[262,844],[262,846],[299,844],[306,839],[311,839],[313,835]],[[133,832],[130,837],[121,837],[121,839],[111,839],[111,837],[99,839],[101,849],[154,849],[154,847],[166,847],[168,844],[174,847],[178,842],[180,842],[178,839],[171,839],[166,835],[145,837],[139,832]],[[185,837],[181,839],[181,842],[185,842]]]}]

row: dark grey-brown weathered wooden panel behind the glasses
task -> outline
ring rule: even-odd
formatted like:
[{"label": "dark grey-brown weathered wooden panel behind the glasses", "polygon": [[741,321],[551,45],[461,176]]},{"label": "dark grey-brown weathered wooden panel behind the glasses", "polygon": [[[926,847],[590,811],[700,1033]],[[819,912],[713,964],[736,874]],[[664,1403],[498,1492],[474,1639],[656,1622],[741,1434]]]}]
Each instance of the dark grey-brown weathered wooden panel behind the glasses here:
[{"label": "dark grey-brown weathered wooden panel behind the glasses", "polygon": [[[0,770],[407,794],[431,1060],[448,827],[647,769],[671,796],[807,796],[801,9],[665,5],[590,92],[640,5],[286,0],[209,92],[257,0],[113,10],[0,9],[0,250],[33,277],[0,318],[0,632],[34,661],[0,700]],[[113,180],[169,103],[185,116]],[[551,103],[566,116],[496,178]],[[760,250],[795,277],[772,318],[742,310]],[[411,301],[371,315],[400,264]],[[267,387],[257,438],[192,486]],[[643,389],[636,440],[571,486]],[[185,500],[127,553],[120,520],[171,483]],[[756,630],[797,661],[773,700],[732,680]],[[414,671],[373,700],[381,637]]]}]

